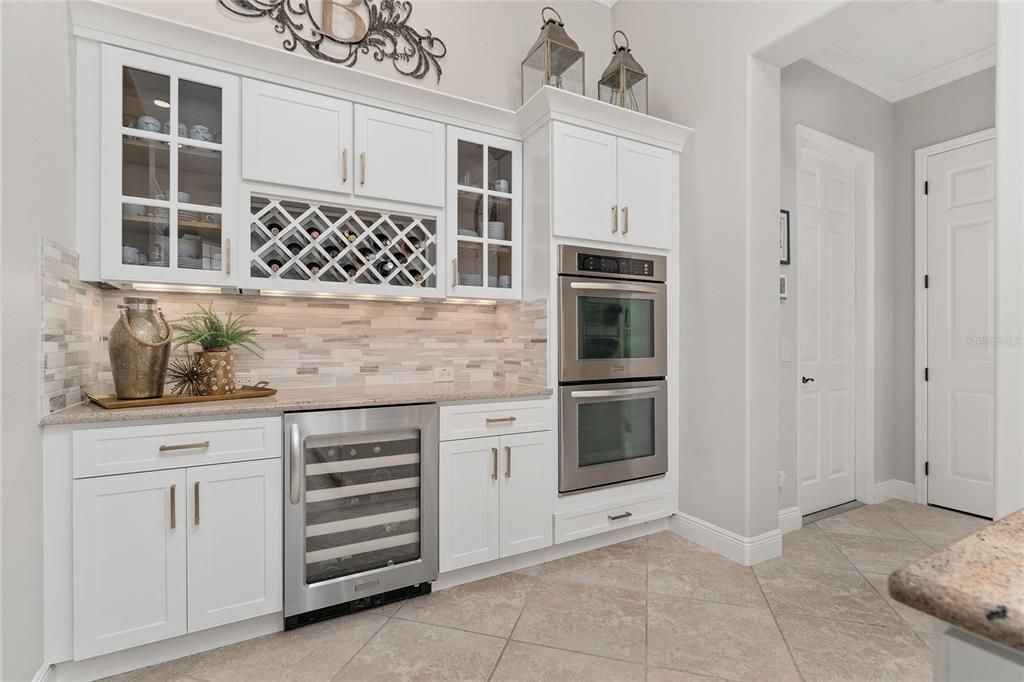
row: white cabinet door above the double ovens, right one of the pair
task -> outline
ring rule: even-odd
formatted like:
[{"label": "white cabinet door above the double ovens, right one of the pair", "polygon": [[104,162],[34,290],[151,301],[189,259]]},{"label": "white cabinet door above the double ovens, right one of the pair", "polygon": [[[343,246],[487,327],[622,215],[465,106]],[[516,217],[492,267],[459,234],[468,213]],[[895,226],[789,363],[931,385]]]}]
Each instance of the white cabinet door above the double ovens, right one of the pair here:
[{"label": "white cabinet door above the double ovens, right one of the pair", "polygon": [[618,140],[618,231],[633,246],[668,249],[679,228],[676,155],[650,144]]}]

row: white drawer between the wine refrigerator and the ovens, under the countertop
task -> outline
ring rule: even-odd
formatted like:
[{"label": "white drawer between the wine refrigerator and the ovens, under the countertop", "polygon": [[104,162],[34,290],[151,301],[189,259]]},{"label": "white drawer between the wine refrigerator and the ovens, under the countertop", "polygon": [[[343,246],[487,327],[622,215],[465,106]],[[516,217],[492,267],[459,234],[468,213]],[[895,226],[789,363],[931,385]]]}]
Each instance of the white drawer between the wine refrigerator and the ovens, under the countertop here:
[{"label": "white drawer between the wine refrigerator and the ovens, under the countertop", "polygon": [[548,431],[553,422],[551,411],[551,400],[441,406],[441,440]]}]

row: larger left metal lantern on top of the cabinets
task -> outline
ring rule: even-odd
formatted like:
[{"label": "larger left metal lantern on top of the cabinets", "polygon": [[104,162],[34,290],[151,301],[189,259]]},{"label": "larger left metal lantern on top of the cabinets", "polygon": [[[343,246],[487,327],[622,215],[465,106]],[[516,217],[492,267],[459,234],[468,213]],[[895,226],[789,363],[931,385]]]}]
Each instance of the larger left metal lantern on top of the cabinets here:
[{"label": "larger left metal lantern on top of the cabinets", "polygon": [[545,7],[541,19],[544,22],[541,35],[522,60],[522,100],[525,102],[545,85],[585,94],[583,51],[565,33],[565,24],[558,12]]}]

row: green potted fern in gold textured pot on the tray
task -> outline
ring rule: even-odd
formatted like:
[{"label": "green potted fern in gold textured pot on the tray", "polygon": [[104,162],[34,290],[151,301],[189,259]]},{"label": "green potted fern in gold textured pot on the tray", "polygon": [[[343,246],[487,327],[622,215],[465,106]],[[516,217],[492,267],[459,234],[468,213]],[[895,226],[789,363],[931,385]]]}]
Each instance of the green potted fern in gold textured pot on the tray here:
[{"label": "green potted fern in gold textured pot on the tray", "polygon": [[224,395],[234,392],[234,351],[232,346],[244,348],[258,357],[262,357],[263,347],[256,342],[256,330],[246,327],[245,315],[233,315],[230,312],[221,317],[214,312],[213,304],[190,312],[173,325],[177,336],[174,337],[174,348],[197,345],[203,350],[196,353],[199,365],[205,370],[209,382],[204,395]]}]

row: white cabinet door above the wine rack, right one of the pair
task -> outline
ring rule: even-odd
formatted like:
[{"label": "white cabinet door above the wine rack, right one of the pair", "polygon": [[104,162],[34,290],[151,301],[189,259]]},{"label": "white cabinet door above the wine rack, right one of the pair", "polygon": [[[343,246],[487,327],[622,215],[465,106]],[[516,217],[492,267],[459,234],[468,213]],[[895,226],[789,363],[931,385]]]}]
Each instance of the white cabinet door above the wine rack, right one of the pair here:
[{"label": "white cabinet door above the wine rack, right one of the pair", "polygon": [[355,105],[355,194],[444,205],[444,126]]}]

